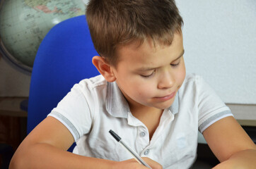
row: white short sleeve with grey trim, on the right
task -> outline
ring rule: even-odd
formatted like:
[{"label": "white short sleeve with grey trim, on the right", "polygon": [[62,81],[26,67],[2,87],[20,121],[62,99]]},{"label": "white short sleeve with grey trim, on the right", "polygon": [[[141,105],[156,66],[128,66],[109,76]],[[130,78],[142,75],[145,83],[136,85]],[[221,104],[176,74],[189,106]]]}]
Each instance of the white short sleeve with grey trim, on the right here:
[{"label": "white short sleeve with grey trim, on the right", "polygon": [[231,110],[224,104],[202,77],[197,76],[199,132],[204,132],[207,127],[228,116],[233,116]]}]

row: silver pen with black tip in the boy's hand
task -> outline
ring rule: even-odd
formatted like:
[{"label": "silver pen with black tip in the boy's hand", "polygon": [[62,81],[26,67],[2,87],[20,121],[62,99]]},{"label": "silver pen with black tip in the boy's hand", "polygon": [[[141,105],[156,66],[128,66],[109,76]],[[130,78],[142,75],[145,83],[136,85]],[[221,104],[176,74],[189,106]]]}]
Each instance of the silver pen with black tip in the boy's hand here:
[{"label": "silver pen with black tip in the boy's hand", "polygon": [[[127,144],[125,144],[121,137],[119,137],[115,132],[113,132],[112,130],[110,130],[110,134],[112,135],[112,137],[114,137],[117,142],[119,142],[120,144],[122,144],[122,146],[124,146],[125,149],[127,149],[127,151],[129,151],[130,154],[132,154],[132,156],[134,156],[134,158],[136,159],[136,161],[138,161],[140,164],[145,165],[147,168],[151,168],[149,166],[149,164],[147,164],[138,154],[136,154],[135,151],[133,151],[129,146],[127,146]],[[151,168],[152,169],[152,168]]]}]

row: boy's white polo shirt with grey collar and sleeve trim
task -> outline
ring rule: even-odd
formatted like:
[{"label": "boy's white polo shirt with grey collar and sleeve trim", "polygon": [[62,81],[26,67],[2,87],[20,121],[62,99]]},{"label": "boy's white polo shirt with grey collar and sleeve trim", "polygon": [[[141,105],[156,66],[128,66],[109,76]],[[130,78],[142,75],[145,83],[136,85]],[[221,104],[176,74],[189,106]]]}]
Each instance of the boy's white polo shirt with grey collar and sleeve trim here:
[{"label": "boy's white polo shirt with grey collar and sleeve trim", "polygon": [[112,161],[133,158],[110,135],[113,130],[140,156],[163,168],[184,169],[196,159],[198,130],[203,132],[232,113],[202,77],[187,75],[149,140],[146,126],[129,111],[117,84],[98,75],[75,84],[50,115],[73,134],[76,154]]}]

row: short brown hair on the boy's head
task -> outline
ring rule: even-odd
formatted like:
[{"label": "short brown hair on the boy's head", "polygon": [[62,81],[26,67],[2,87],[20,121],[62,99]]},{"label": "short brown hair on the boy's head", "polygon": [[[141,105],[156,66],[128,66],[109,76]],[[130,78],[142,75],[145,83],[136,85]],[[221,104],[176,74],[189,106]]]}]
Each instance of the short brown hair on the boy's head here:
[{"label": "short brown hair on the boy's head", "polygon": [[145,39],[170,45],[183,25],[174,0],[91,0],[86,20],[96,51],[111,65],[118,47]]}]

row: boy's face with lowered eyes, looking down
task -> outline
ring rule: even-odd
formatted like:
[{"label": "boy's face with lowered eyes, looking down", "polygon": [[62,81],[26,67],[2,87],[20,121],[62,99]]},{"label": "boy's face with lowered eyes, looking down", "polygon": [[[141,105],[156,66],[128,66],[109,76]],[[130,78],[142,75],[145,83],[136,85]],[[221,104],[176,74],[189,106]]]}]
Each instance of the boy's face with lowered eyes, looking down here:
[{"label": "boy's face with lowered eyes, looking down", "polygon": [[130,108],[164,109],[173,104],[185,79],[182,35],[176,33],[170,46],[145,41],[129,44],[117,51],[112,71]]}]

